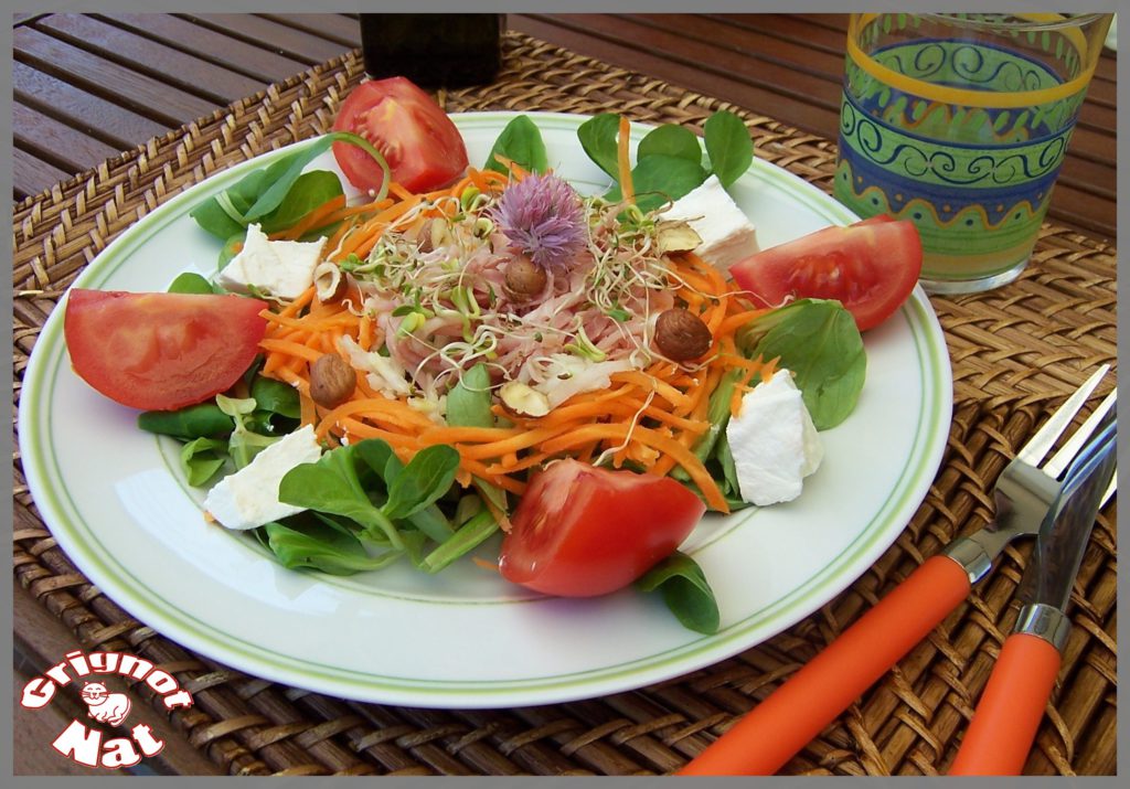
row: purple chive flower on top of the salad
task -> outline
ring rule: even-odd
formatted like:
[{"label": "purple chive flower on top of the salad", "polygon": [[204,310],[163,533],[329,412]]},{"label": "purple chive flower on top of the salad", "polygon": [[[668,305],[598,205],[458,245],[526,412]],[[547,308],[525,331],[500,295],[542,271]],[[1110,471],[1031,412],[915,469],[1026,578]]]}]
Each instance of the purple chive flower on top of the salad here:
[{"label": "purple chive flower on top of the salad", "polygon": [[556,175],[531,173],[511,184],[493,215],[511,244],[541,268],[566,266],[584,249],[581,201]]}]

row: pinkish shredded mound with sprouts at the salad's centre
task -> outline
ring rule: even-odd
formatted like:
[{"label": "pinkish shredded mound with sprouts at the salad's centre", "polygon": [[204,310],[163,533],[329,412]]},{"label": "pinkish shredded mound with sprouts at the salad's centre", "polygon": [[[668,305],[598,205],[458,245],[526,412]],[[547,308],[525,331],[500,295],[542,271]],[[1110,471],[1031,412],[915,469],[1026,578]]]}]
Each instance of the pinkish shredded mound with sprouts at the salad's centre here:
[{"label": "pinkish shredded mound with sprouts at the salad's centre", "polygon": [[[592,243],[608,243],[614,231],[615,216],[601,217]],[[370,376],[374,389],[386,396],[414,394],[436,401],[462,369],[486,362],[496,382],[527,383],[547,394],[555,407],[573,394],[608,388],[615,372],[642,369],[650,361],[655,315],[675,303],[673,288],[633,280],[618,291],[617,312],[627,319],[617,320],[592,303],[590,277],[597,265],[592,255],[588,265],[548,269],[540,296],[519,303],[504,286],[514,252],[499,231],[479,239],[453,223],[446,234],[440,234],[446,237],[438,245],[431,243],[436,233],[427,235],[425,243],[414,233],[389,231],[385,250],[399,261],[399,278],[388,271],[357,277],[365,310],[375,315],[376,333],[383,337],[389,356],[374,361],[376,352],[368,354],[356,344],[342,349]],[[661,261],[654,257],[651,261],[664,270]],[[453,288],[473,298],[473,305],[463,301],[472,313],[477,309],[477,315],[460,312]],[[421,293],[441,295],[428,300]],[[427,312],[406,333],[401,330],[405,317],[392,313],[414,304]],[[581,345],[589,353],[579,350]],[[397,371],[403,375],[399,383],[390,380]]]}]

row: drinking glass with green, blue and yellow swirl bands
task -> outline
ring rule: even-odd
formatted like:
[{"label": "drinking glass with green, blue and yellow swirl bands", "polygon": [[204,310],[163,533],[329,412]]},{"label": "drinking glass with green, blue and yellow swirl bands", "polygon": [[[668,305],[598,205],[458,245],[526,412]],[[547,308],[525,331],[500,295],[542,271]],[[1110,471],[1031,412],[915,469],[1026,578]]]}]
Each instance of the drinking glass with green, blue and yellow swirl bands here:
[{"label": "drinking glass with green, blue and yellow swirl bands", "polygon": [[852,14],[835,197],[912,219],[921,283],[1020,276],[1110,14]]}]

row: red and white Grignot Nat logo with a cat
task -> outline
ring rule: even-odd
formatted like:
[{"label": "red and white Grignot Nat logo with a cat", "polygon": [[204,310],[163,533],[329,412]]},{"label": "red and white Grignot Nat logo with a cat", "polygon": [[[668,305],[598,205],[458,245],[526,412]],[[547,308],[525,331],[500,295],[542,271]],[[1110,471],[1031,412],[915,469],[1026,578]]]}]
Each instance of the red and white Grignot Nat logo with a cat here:
[{"label": "red and white Grignot Nat logo with a cat", "polygon": [[[192,695],[181,687],[176,678],[150,661],[125,652],[68,652],[66,659],[52,666],[42,676],[24,685],[20,706],[38,710],[51,703],[55,691],[90,675],[119,675],[145,682],[164,696],[165,709],[192,706]],[[82,682],[79,697],[87,706],[87,718],[110,726],[123,726],[129,737],[114,737],[103,742],[101,729],[92,728],[79,719],[71,720],[51,744],[55,751],[88,768],[118,770],[133,766],[146,756],[156,756],[165,747],[153,728],[145,722],[130,720],[130,700],[124,693],[112,693],[101,682]],[[132,723],[132,725],[131,725]]]}]

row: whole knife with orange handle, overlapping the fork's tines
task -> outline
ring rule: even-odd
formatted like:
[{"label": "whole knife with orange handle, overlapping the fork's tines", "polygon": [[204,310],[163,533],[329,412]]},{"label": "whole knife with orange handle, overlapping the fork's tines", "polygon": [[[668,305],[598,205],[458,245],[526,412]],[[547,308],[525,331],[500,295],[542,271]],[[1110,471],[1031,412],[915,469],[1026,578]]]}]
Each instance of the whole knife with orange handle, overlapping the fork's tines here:
[{"label": "whole knife with orange handle, overlapping the fork's tines", "polygon": [[1018,775],[1059,674],[1071,623],[1066,609],[1103,494],[1114,475],[1114,409],[1068,470],[1044,518],[1017,596],[1023,606],[1005,640],[950,775]]}]

